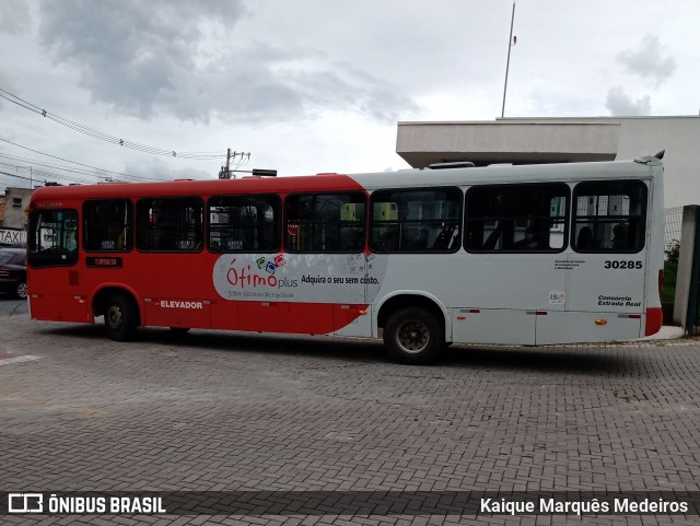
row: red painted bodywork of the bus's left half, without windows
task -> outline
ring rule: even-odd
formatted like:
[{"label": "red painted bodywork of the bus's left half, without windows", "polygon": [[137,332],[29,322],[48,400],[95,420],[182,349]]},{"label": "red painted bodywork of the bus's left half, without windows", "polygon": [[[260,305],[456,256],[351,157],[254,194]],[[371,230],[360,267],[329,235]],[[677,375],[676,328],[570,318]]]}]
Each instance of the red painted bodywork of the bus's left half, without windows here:
[{"label": "red painted bodywork of the bus's left half, without windows", "polygon": [[[167,185],[167,186],[165,186]],[[34,192],[37,209],[72,208],[82,225],[82,206],[90,199],[143,197],[288,194],[301,191],[363,190],[342,175],[245,178],[236,180],[180,180],[172,183],[105,184],[46,187]],[[82,236],[82,226],[79,226]],[[32,317],[43,320],[94,323],[93,299],[105,287],[130,291],[138,304],[141,325],[260,332],[332,334],[361,316],[366,304],[229,301],[212,283],[212,268],[221,254],[199,253],[91,253],[80,246],[71,267],[32,269],[30,301]],[[88,268],[85,258],[109,256],[121,268]],[[39,292],[40,291],[40,292]],[[50,291],[50,295],[45,291]]]}]

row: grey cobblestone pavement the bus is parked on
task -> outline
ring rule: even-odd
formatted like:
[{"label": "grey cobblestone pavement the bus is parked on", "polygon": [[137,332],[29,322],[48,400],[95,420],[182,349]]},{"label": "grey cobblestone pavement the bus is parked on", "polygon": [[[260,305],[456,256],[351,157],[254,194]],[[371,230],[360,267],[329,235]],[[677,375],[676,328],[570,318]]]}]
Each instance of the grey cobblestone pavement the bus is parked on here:
[{"label": "grey cobblestone pavement the bus is parked on", "polygon": [[[0,317],[0,490],[700,491],[700,342],[453,346]],[[304,493],[306,494],[306,493]],[[3,524],[700,524],[642,515],[5,515]]]}]

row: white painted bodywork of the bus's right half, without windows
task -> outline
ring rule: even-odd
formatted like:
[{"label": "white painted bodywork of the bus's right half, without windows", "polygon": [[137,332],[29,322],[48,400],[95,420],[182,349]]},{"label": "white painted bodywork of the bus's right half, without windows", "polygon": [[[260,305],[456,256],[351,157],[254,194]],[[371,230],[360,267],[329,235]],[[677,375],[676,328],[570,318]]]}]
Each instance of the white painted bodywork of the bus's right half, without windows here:
[{"label": "white painted bodywork of the bus's right half, without windows", "polygon": [[[565,250],[548,254],[474,254],[462,247],[455,254],[389,255],[377,305],[392,291],[420,284],[448,309],[446,338],[455,342],[550,344],[644,336],[645,308],[661,306],[645,289],[663,268],[663,166],[656,160],[444,170],[430,176],[425,186],[463,191],[483,184],[563,182],[573,189],[583,180],[643,180],[649,189],[644,248],[580,254],[567,242]],[[353,177],[370,191],[395,185],[393,178],[383,180],[384,174]]]}]

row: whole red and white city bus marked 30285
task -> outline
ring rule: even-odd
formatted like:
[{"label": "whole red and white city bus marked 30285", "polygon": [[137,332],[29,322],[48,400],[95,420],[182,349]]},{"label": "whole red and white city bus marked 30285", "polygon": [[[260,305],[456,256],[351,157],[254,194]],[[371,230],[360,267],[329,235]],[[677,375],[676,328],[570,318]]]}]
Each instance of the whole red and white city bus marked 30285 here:
[{"label": "whole red and white city bus marked 30285", "polygon": [[660,329],[658,159],[438,167],[37,189],[32,317],[383,335],[407,363]]}]

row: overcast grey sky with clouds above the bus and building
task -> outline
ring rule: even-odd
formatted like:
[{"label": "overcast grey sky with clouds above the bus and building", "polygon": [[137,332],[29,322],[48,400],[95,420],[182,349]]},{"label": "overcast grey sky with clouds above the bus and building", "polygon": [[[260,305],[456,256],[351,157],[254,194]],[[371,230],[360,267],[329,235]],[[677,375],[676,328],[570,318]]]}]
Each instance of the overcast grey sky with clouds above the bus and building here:
[{"label": "overcast grey sky with clouds above the bus and building", "polygon": [[[127,142],[249,152],[242,170],[398,170],[397,121],[500,116],[512,7],[1,0],[0,95]],[[699,20],[697,0],[517,0],[505,115],[698,115]],[[0,191],[30,172],[100,180],[36,152],[149,178],[213,178],[223,163],[101,141],[5,98],[0,117],[0,172],[20,176]]]}]

